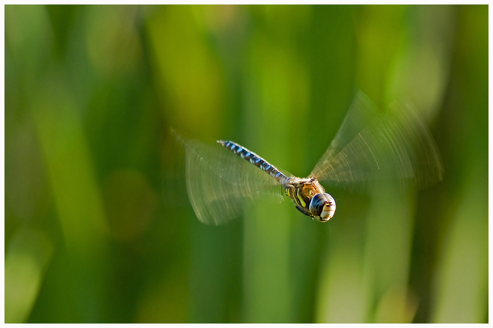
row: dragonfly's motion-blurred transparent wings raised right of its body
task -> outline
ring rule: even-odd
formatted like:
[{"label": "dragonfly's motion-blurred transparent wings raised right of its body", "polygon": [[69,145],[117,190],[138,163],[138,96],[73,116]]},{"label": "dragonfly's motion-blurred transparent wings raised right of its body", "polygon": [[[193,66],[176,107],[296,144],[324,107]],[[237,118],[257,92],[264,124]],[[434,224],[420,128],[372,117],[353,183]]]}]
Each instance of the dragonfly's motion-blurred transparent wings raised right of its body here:
[{"label": "dragonfly's motion-blurred transparent wings raised right of its body", "polygon": [[369,191],[383,181],[419,188],[442,179],[442,163],[426,124],[413,108],[392,103],[379,113],[361,91],[310,178]]}]

